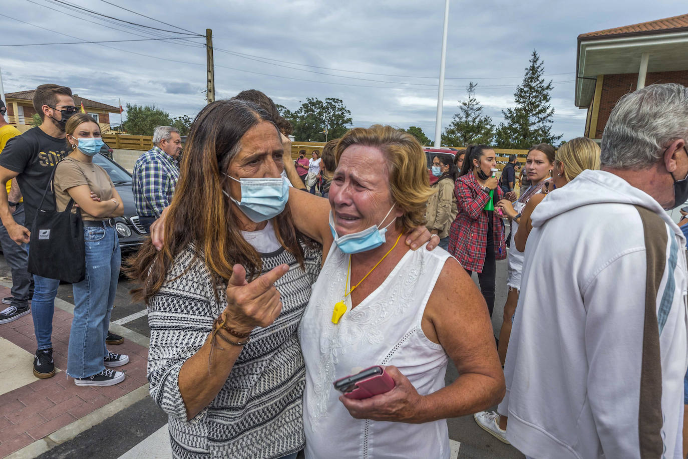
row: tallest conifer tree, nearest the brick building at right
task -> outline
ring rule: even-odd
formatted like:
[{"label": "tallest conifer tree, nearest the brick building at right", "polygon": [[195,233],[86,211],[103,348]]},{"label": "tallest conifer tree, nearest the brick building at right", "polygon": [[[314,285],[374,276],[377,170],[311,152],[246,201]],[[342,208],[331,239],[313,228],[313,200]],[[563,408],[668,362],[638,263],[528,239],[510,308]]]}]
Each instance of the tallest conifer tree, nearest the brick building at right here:
[{"label": "tallest conifer tree, nearest the brick building at right", "polygon": [[550,145],[561,139],[552,134],[552,116],[555,109],[550,105],[552,81],[545,83],[544,62],[534,50],[526,67],[523,82],[516,88],[513,109],[502,110],[504,122],[497,128],[497,146],[500,148],[527,149],[538,143]]}]

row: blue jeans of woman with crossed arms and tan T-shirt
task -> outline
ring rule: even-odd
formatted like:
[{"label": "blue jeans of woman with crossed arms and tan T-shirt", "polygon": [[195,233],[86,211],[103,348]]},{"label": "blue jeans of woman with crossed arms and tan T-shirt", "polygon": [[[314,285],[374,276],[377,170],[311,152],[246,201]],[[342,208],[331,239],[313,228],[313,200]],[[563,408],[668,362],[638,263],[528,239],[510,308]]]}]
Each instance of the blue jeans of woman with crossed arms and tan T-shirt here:
[{"label": "blue jeans of woman with crossed arms and tan T-shirt", "polygon": [[105,369],[105,338],[120,275],[120,242],[114,228],[84,227],[86,278],[72,284],[74,320],[67,374],[85,378]]}]

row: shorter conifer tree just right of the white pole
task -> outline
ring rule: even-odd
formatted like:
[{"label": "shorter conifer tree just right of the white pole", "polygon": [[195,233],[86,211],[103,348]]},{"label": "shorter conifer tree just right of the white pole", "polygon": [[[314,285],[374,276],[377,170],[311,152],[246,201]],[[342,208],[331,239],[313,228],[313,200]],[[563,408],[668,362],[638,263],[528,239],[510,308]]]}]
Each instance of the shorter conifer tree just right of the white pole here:
[{"label": "shorter conifer tree just right of the white pole", "polygon": [[451,123],[444,129],[442,145],[466,147],[471,144],[490,145],[495,137],[495,125],[492,118],[482,114],[482,105],[475,98],[477,83],[466,86],[468,96],[459,105],[458,113],[451,118]]}]

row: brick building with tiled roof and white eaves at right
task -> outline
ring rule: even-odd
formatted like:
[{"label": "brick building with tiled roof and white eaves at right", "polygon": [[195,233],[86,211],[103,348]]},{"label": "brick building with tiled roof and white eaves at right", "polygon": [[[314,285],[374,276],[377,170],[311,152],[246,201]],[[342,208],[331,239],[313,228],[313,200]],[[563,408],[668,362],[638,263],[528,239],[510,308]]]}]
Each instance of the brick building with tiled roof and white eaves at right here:
[{"label": "brick building with tiled roof and white eaves at right", "polygon": [[688,86],[688,14],[578,36],[576,106],[585,136],[601,139],[616,102],[656,83]]}]

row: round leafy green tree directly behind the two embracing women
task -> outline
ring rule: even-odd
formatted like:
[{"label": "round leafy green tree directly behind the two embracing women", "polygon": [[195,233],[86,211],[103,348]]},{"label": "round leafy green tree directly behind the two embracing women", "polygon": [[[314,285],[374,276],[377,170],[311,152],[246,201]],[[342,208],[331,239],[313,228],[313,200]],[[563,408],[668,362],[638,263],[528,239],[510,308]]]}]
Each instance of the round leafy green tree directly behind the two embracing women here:
[{"label": "round leafy green tree directly behind the two embracing women", "polygon": [[351,111],[343,101],[332,97],[325,100],[308,97],[296,111],[289,111],[283,106],[277,108],[281,116],[294,126],[294,138],[301,141],[324,142],[339,138],[353,122]]}]

